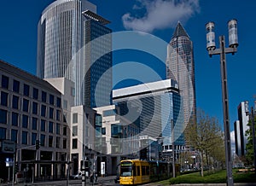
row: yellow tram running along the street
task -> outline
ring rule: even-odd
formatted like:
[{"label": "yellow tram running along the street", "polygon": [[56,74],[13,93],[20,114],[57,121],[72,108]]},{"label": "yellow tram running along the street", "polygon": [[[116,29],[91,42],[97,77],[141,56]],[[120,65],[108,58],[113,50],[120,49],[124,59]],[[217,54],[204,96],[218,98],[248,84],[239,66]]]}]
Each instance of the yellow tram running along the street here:
[{"label": "yellow tram running along the street", "polygon": [[172,164],[152,160],[121,160],[119,183],[133,185],[171,177]]}]

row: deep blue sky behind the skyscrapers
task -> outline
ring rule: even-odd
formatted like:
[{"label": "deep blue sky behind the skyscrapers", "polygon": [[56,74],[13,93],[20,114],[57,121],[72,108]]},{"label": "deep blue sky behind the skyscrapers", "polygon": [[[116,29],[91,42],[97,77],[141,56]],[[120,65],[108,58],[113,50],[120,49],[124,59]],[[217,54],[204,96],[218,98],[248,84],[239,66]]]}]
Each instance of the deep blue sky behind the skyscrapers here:
[{"label": "deep blue sky behind the skyscrapers", "polygon": [[[42,11],[53,0],[1,0],[0,3],[0,59],[26,72],[36,73],[37,25]],[[238,52],[227,55],[228,89],[230,98],[230,127],[237,119],[237,106],[248,100],[253,106],[255,86],[256,20],[253,0],[90,0],[97,13],[111,21],[113,32],[140,30],[169,42],[177,20],[180,20],[194,43],[196,105],[223,124],[219,55],[207,54],[205,25],[215,22],[216,44],[224,35],[228,43],[227,22],[238,21]],[[253,34],[254,33],[254,34]],[[227,44],[226,44],[227,45]],[[130,53],[131,52],[131,53]],[[132,55],[132,57],[131,57]],[[113,55],[113,63],[141,61],[132,51]],[[144,55],[144,61],[154,67],[161,77],[165,69],[154,57]],[[153,64],[153,65],[152,65]],[[113,72],[115,76],[117,72]],[[154,81],[150,78],[148,81]],[[113,76],[113,77],[114,77]]]}]

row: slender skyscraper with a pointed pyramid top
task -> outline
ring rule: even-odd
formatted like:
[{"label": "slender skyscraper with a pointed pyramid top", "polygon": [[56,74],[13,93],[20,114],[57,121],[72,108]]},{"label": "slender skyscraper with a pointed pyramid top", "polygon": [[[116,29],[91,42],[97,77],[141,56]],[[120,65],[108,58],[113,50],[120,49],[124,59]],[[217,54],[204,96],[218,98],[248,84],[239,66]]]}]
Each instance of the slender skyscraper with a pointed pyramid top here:
[{"label": "slender skyscraper with a pointed pyramid top", "polygon": [[183,97],[184,126],[195,122],[195,63],[193,44],[180,22],[167,46],[166,78],[177,81]]}]

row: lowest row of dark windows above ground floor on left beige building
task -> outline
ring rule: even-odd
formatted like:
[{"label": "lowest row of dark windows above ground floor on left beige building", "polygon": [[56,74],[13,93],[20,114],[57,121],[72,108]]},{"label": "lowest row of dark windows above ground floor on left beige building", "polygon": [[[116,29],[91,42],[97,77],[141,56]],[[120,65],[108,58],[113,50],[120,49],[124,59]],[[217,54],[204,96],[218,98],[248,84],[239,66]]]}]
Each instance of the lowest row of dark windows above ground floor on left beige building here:
[{"label": "lowest row of dark windows above ground floor on left beige building", "polygon": [[[7,129],[0,127],[0,139],[6,139]],[[24,145],[35,145],[36,140],[38,139],[38,133],[31,133],[31,142],[29,142],[29,132],[21,131],[21,144]],[[11,141],[17,142],[18,141],[18,130],[11,129]],[[47,140],[48,138],[48,140]],[[42,147],[49,147],[49,148],[67,148],[67,138],[62,138],[62,146],[61,146],[61,137],[53,137],[53,136],[46,136],[44,134],[40,135],[40,146]]]}]

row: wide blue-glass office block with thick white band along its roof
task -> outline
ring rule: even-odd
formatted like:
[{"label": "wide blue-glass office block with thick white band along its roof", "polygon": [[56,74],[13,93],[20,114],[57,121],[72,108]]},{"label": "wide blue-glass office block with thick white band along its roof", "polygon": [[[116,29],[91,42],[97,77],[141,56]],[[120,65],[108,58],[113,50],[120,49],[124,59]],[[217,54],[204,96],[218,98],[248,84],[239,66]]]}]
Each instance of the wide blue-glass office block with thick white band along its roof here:
[{"label": "wide blue-glass office block with thick white band along its roof", "polygon": [[[139,128],[138,141],[162,139],[163,151],[169,152],[172,150],[173,121],[174,144],[176,148],[184,145],[183,102],[172,79],[113,90],[113,103],[119,107],[120,117],[126,120],[125,126],[132,124]],[[147,156],[150,160],[159,158],[153,154]]]}]

